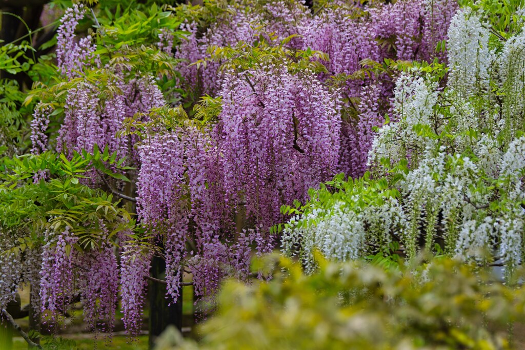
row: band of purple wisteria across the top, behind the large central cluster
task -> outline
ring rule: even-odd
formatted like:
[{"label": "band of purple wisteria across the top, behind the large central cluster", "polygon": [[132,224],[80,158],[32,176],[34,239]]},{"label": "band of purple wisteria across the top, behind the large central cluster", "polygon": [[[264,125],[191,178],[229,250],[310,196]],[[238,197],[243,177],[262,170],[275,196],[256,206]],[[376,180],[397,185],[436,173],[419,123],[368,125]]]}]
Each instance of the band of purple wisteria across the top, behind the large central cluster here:
[{"label": "band of purple wisteria across the top, behind the large central cluster", "polygon": [[[206,67],[188,63],[209,57],[208,47],[233,47],[241,41],[253,44],[261,36],[269,35],[277,43],[295,35],[288,41],[288,47],[328,54],[329,61],[323,62],[328,73],[318,77],[321,82],[340,74],[352,76],[362,68],[360,62],[364,59],[432,61],[437,57],[445,62],[446,54],[436,51],[436,46],[447,39],[450,20],[458,8],[453,0],[400,0],[395,4],[372,2],[367,6],[359,2],[333,2],[313,15],[308,7],[295,1],[271,1],[262,7],[261,10],[229,5],[228,11],[233,15],[214,23],[204,34],[196,24],[183,26],[190,34],[175,56],[183,60],[180,71],[185,86],[198,91],[199,96],[218,94],[220,81],[226,79],[218,69],[220,62],[207,62]],[[342,152],[339,170],[349,176],[360,176],[366,169],[373,127],[381,126],[383,115],[391,110],[392,81],[386,75],[350,79],[341,91],[347,100],[346,107],[359,113],[359,118],[343,119],[339,132]],[[362,102],[359,106],[352,105],[348,102],[352,99]],[[368,102],[372,104],[367,105]]]}]

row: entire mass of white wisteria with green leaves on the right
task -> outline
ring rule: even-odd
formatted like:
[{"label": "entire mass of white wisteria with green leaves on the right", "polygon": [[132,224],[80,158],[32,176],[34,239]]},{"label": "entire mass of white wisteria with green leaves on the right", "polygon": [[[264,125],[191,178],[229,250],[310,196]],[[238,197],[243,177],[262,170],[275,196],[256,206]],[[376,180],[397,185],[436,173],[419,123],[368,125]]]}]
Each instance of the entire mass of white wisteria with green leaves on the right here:
[{"label": "entire mass of white wisteria with green leaves on the right", "polygon": [[483,20],[469,7],[454,16],[446,87],[440,67],[400,74],[370,172],[312,194],[288,222],[283,252],[307,270],[316,249],[343,261],[439,250],[501,259],[507,271],[524,260],[525,31],[492,40]]}]

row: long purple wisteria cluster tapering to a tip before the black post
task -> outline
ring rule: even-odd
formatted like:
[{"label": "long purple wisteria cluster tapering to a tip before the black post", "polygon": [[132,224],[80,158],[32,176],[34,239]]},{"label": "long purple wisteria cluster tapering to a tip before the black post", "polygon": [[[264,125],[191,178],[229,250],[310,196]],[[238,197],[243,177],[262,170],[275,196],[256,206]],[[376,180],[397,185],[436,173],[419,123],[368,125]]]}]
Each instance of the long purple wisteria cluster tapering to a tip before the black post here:
[{"label": "long purple wisteria cluster tapering to a tip before the black post", "polygon": [[151,136],[139,147],[137,213],[154,234],[163,234],[168,294],[180,292],[181,260],[188,235],[190,203],[185,179],[185,143],[176,131]]}]

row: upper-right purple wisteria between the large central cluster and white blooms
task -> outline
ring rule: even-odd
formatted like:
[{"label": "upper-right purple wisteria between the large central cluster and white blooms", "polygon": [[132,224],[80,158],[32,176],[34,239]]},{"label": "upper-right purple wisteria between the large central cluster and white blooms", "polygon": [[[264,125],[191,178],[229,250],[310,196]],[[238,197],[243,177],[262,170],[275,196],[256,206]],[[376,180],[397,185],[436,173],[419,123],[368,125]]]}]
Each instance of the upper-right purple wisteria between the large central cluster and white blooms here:
[{"label": "upper-right purple wisteria between the large central cluster and white blooms", "polygon": [[[432,61],[438,41],[446,38],[454,1],[398,1],[390,5],[348,6],[334,3],[302,28],[304,49],[327,52],[330,75],[353,75],[363,59],[384,58]],[[379,45],[378,45],[379,42]],[[390,48],[389,48],[390,47]],[[394,53],[395,55],[394,55]],[[443,55],[442,55],[443,56]],[[342,89],[345,109],[357,116],[343,121],[340,170],[357,177],[366,169],[367,153],[392,98],[393,84],[386,76],[348,80]],[[351,104],[351,100],[357,103]]]}]

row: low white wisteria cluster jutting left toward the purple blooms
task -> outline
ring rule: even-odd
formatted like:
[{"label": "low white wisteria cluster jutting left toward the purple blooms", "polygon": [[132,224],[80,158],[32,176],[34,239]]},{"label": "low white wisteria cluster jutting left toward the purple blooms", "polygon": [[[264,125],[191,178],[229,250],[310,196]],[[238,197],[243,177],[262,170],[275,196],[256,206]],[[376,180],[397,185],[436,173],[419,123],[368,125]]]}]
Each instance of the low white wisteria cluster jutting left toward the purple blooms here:
[{"label": "low white wisteria cluster jutting left toward the purple blooms", "polygon": [[283,231],[283,252],[298,255],[305,270],[312,272],[316,249],[329,259],[348,261],[362,256],[367,245],[388,247],[392,236],[407,235],[403,208],[395,198],[380,206],[360,206],[359,202],[358,196],[350,195],[335,200],[328,209],[315,208],[292,218]]}]

